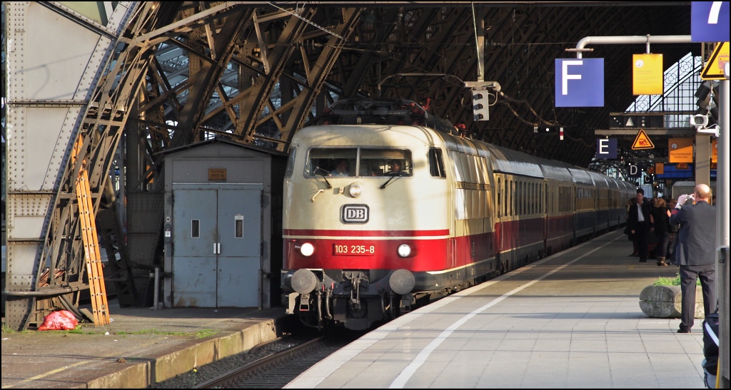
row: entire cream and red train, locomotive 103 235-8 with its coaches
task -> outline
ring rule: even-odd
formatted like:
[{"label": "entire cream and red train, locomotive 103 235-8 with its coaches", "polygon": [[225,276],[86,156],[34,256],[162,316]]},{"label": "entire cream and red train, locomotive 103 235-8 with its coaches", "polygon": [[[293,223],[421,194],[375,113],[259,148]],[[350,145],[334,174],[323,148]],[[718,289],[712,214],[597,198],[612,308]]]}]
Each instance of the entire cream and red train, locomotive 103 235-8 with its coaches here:
[{"label": "entire cream and red train, locomotive 103 235-8 with its coaches", "polygon": [[[572,245],[581,236],[571,170],[588,178],[581,194],[591,204],[580,204],[594,213],[586,170],[465,139],[409,100],[336,102],[290,145],[287,313],[308,326],[368,329],[409,312],[417,299]],[[620,193],[629,190],[611,183],[610,195],[627,199]],[[599,225],[586,223],[579,234],[594,234]]]}]

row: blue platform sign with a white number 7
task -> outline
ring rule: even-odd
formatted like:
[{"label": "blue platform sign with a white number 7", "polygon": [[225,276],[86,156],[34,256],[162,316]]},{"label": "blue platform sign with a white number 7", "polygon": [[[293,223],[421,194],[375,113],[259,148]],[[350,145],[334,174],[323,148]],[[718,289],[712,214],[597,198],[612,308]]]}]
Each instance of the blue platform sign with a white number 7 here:
[{"label": "blue platform sign with a white number 7", "polygon": [[693,42],[729,42],[728,1],[692,1],[690,15]]}]

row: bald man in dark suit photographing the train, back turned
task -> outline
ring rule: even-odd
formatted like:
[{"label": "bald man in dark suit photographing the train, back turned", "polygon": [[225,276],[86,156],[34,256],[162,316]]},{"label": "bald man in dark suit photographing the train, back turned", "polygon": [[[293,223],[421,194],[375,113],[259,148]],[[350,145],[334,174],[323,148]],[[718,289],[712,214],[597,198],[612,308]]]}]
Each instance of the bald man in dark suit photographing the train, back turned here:
[{"label": "bald man in dark suit photographing the train, back turned", "polygon": [[[687,202],[688,200],[695,201]],[[686,204],[687,202],[687,204]],[[695,280],[700,278],[703,309],[708,317],[716,311],[716,207],[710,204],[711,188],[695,186],[693,195],[678,196],[670,223],[680,223],[675,261],[681,276],[681,326],[690,333],[695,317]]]}]

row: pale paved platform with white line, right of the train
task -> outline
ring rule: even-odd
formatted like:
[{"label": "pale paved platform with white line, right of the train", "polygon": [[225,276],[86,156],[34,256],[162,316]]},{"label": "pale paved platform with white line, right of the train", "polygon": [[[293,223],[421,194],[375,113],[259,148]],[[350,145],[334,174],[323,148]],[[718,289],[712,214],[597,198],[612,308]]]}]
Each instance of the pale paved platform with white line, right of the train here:
[{"label": "pale paved platform with white line, right of the train", "polygon": [[638,263],[621,231],[396,318],[286,388],[703,388],[701,321],[648,318],[677,267]]}]

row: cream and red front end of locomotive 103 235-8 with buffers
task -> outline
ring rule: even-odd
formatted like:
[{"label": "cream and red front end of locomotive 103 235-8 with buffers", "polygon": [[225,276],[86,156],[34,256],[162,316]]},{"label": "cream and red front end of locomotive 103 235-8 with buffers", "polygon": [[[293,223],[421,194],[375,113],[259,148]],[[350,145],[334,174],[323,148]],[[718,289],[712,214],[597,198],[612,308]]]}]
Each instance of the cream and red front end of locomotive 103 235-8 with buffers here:
[{"label": "cream and red front end of locomotive 103 235-8 with buffers", "polygon": [[281,286],[287,313],[303,324],[368,329],[409,311],[420,275],[444,267],[444,180],[423,183],[431,175],[417,167],[428,164],[429,148],[414,133],[368,125],[295,134]]}]

